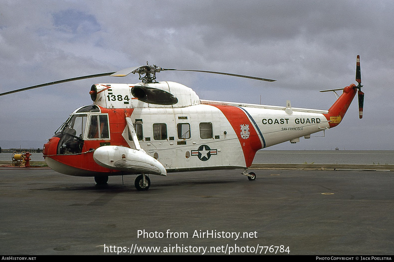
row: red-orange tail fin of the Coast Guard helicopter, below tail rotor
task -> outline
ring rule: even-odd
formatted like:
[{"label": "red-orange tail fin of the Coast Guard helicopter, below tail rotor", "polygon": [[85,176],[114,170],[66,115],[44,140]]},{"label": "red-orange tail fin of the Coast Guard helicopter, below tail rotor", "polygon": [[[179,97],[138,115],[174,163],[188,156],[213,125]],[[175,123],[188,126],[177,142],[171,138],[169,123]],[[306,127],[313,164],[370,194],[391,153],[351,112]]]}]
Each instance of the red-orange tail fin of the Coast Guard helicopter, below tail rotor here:
[{"label": "red-orange tail fin of the Coast Guard helicopter, below tail rotor", "polygon": [[356,95],[357,87],[355,84],[351,84],[344,88],[342,95],[335,101],[335,103],[328,110],[327,114],[324,114],[330,124],[330,128],[337,126],[345,116],[351,101]]}]

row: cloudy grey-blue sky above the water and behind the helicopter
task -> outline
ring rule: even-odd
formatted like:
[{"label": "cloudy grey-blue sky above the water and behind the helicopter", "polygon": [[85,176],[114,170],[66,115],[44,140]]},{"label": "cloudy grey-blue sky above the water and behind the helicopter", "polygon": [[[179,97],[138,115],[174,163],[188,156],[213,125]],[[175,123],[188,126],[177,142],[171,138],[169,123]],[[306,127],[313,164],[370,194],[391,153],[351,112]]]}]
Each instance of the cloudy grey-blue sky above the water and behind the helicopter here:
[{"label": "cloudy grey-blue sky above the water and behind the helicopter", "polygon": [[[0,0],[0,93],[149,61],[278,80],[158,75],[202,99],[258,104],[261,95],[262,104],[291,100],[293,107],[328,109],[334,94],[318,91],[355,83],[359,54],[364,118],[354,100],[325,138],[270,149],[392,150],[393,17],[392,0]],[[101,82],[138,78],[93,78],[0,97],[0,146],[29,140],[41,147],[72,111],[91,104],[90,86]]]}]

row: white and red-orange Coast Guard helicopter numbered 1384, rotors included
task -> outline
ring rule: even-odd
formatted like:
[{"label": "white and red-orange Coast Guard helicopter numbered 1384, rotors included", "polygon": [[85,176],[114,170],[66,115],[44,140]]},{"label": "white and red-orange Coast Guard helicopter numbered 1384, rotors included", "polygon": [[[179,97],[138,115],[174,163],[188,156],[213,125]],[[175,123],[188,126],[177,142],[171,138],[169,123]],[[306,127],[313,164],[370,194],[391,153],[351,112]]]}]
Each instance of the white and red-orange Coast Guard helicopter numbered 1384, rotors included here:
[{"label": "white and red-orange Coast Guard helicopter numbered 1384, rotors included", "polygon": [[358,90],[359,117],[364,93],[361,91],[360,56],[356,81],[344,88],[329,110],[292,108],[202,100],[189,87],[175,82],[156,82],[161,71],[193,71],[225,74],[273,82],[275,80],[213,71],[164,69],[144,65],[118,72],[69,78],[0,94],[99,76],[138,73],[137,84],[94,84],[93,104],[71,113],[44,145],[45,162],[59,173],[94,177],[106,184],[109,176],[138,175],[135,186],[148,190],[149,174],[217,169],[243,169],[248,173],[259,149],[337,126]]}]

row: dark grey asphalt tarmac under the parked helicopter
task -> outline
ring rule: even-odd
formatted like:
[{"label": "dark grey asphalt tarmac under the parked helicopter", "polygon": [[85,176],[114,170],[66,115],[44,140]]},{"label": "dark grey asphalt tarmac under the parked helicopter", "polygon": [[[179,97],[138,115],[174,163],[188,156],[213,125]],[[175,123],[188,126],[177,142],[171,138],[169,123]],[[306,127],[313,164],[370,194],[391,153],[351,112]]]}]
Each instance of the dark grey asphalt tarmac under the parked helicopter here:
[{"label": "dark grey asphalt tarmac under the parked helicopter", "polygon": [[253,171],[150,176],[137,191],[135,176],[99,187],[1,169],[0,255],[394,253],[392,172]]}]

